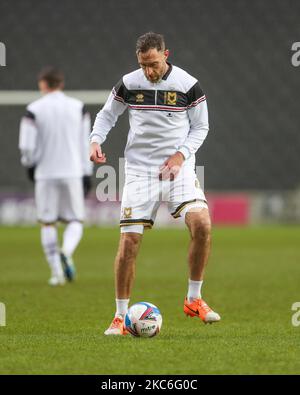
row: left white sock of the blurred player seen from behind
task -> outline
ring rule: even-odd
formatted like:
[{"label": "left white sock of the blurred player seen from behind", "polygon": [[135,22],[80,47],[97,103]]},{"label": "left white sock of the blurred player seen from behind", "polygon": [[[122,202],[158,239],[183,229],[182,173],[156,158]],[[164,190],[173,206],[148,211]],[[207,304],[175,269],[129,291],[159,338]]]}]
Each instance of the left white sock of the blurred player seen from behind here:
[{"label": "left white sock of the blurred player seen from behind", "polygon": [[57,230],[55,226],[42,226],[41,241],[46,259],[49,263],[52,276],[63,276],[61,267],[58,244]]}]

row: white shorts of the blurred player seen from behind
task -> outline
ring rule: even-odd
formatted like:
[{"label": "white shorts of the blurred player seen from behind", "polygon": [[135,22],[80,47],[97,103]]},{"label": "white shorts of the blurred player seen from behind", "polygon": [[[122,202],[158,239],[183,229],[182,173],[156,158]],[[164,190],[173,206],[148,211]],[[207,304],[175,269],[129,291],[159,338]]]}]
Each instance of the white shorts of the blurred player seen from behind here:
[{"label": "white shorts of the blurred player seen from behind", "polygon": [[84,219],[84,196],[81,178],[37,180],[35,201],[39,222],[71,222]]}]

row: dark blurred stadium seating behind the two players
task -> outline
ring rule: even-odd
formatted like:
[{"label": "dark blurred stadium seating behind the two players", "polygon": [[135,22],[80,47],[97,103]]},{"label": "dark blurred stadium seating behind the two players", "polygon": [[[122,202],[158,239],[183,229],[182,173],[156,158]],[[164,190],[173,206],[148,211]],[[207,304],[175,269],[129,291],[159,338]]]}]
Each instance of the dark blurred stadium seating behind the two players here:
[{"label": "dark blurred stadium seating behind the two players", "polygon": [[[296,0],[251,7],[246,0],[1,0],[7,66],[0,67],[0,94],[35,90],[46,64],[64,70],[68,90],[110,89],[137,68],[137,36],[162,32],[171,62],[198,77],[207,94],[210,133],[197,154],[206,190],[247,193],[252,218],[299,221],[300,67],[291,64],[299,15]],[[101,105],[88,107],[94,118]],[[0,105],[2,202],[32,191],[17,149],[23,112],[24,105]],[[127,130],[125,115],[105,144],[116,167]]]}]

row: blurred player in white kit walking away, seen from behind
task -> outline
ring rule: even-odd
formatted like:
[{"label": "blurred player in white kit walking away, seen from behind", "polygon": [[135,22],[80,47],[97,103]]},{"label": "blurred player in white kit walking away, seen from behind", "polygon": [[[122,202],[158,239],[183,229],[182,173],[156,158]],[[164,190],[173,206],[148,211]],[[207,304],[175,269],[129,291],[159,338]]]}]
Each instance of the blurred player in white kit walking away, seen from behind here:
[{"label": "blurred player in white kit walking away, seen from behind", "polygon": [[[21,120],[21,163],[35,181],[37,217],[41,242],[51,269],[49,284],[72,281],[72,255],[81,240],[84,193],[91,186],[89,161],[90,115],[83,103],[66,96],[64,75],[47,67],[38,76],[44,94],[27,106]],[[65,222],[62,248],[58,245],[57,221]]]}]

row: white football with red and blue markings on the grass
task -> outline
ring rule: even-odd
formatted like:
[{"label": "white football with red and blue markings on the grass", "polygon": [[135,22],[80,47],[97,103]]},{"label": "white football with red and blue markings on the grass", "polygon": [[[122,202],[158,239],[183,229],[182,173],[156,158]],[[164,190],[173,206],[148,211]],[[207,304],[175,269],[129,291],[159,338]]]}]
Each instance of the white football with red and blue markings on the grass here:
[{"label": "white football with red and blue markings on the grass", "polygon": [[154,337],[160,332],[162,316],[152,303],[132,305],[125,316],[125,328],[135,337]]}]

